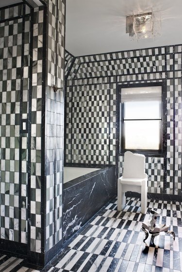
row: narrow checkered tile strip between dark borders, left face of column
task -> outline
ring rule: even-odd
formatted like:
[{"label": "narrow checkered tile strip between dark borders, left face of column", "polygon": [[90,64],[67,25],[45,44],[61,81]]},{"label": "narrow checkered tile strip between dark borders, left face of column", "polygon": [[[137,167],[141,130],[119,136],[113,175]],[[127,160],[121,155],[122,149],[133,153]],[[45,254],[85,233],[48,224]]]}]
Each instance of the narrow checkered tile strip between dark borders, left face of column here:
[{"label": "narrow checkered tile strip between dark borders, left face of column", "polygon": [[[32,116],[31,116],[31,173],[28,190],[30,191],[30,251],[41,252],[41,151],[42,142],[42,80],[43,80],[43,7],[33,9],[33,48],[32,52]],[[43,188],[42,188],[43,190]],[[42,201],[42,205],[41,205]]]}]

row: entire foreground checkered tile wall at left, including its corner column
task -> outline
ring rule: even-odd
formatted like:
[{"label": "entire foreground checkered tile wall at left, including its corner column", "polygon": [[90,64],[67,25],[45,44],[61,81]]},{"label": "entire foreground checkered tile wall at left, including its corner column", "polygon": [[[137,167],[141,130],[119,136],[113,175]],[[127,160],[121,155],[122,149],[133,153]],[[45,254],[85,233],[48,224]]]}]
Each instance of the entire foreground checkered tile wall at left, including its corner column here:
[{"label": "entire foreground checkered tile wall at left, including its corner column", "polygon": [[62,244],[65,2],[33,6],[0,9],[0,242],[44,265]]}]

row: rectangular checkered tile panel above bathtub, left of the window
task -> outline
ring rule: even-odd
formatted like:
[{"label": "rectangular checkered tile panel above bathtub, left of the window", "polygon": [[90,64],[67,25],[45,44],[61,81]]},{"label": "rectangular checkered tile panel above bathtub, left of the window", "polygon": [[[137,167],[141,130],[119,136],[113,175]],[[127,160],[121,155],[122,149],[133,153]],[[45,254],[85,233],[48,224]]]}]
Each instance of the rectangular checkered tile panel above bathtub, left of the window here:
[{"label": "rectangular checkered tile panel above bathtub, left of the window", "polygon": [[70,161],[109,162],[109,92],[109,84],[73,87],[67,105],[72,123]]}]

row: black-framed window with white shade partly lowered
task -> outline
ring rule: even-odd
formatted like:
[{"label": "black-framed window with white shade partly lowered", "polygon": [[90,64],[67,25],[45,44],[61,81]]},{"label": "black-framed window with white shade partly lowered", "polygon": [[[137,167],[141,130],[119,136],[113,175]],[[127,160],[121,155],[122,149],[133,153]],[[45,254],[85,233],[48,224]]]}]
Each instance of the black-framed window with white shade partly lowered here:
[{"label": "black-framed window with white shade partly lowered", "polygon": [[162,86],[121,88],[121,151],[162,152]]}]

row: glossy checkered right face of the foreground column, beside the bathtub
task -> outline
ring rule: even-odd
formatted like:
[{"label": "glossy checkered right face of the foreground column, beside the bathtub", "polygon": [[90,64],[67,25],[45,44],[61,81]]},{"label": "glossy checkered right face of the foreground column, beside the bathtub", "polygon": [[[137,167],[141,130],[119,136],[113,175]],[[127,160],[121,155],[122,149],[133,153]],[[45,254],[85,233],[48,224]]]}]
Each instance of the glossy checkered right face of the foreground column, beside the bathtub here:
[{"label": "glossy checkered right face of the foreground column, beside the bathtub", "polygon": [[49,0],[48,36],[46,251],[62,239],[64,91],[52,86],[64,86],[64,0]]}]

